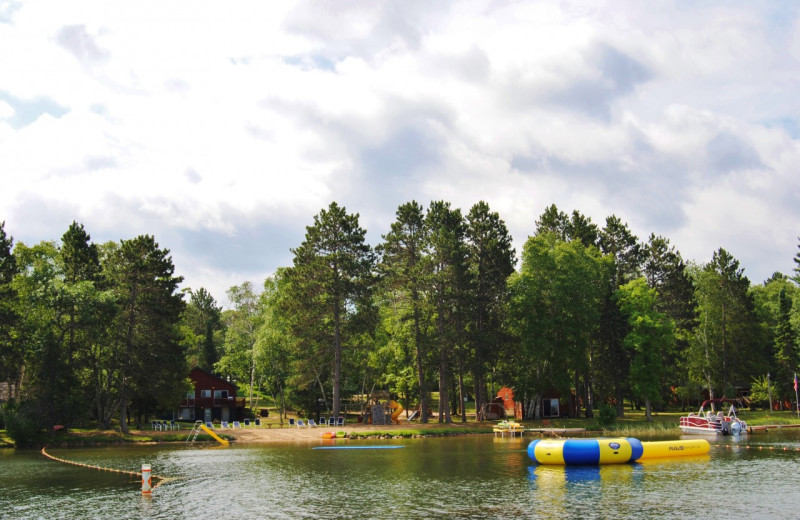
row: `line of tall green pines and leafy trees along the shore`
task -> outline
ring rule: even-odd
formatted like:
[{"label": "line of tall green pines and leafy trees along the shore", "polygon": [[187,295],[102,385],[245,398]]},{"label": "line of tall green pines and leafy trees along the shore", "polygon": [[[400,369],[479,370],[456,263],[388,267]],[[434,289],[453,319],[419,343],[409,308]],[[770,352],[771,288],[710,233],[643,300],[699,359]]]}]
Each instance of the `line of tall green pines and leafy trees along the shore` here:
[{"label": "line of tall green pines and leafy trees along the shore", "polygon": [[[398,207],[372,247],[359,215],[331,203],[263,288],[180,289],[152,236],[14,245],[0,225],[0,381],[9,431],[51,424],[126,430],[173,409],[200,367],[258,406],[339,415],[376,390],[438,420],[480,414],[511,386],[528,417],[543,396],[591,417],[749,389],[794,396],[800,252],[793,276],[752,285],[729,252],[685,261],[665,237],[640,241],[552,205],[519,255],[497,212],[445,201]],[[769,375],[768,375],[769,374]],[[433,399],[436,396],[438,399]]]}]

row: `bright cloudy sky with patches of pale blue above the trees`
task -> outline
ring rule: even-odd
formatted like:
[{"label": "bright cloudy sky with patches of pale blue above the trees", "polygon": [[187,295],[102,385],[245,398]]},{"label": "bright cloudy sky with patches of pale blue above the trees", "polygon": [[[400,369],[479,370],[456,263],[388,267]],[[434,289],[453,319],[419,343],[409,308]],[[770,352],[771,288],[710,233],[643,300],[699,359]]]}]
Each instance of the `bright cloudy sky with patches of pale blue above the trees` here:
[{"label": "bright cloudy sky with patches of pale blue above the trees", "polygon": [[800,236],[795,1],[0,0],[0,221],[260,287],[332,201],[626,222],[753,283]]}]

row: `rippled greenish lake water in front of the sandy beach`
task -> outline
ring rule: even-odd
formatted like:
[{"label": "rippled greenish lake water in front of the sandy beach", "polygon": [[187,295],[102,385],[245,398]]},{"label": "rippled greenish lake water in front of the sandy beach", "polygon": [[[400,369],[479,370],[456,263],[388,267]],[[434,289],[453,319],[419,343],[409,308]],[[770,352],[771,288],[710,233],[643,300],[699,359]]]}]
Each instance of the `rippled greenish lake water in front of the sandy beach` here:
[{"label": "rippled greenish lake water in front of the sandy beach", "polygon": [[[602,467],[538,466],[531,438],[0,450],[2,518],[798,518],[800,432],[711,438],[708,456]],[[400,449],[314,450],[323,445]]]}]

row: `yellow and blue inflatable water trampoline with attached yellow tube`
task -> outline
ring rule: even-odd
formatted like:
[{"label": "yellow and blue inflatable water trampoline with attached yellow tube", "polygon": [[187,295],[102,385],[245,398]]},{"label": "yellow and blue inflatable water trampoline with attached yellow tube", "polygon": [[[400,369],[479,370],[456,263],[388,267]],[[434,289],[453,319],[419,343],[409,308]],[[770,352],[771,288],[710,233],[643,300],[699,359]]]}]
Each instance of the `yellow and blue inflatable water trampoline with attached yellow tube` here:
[{"label": "yellow and blue inflatable water trampoline with attached yellow tube", "polygon": [[539,464],[625,464],[645,459],[705,455],[705,439],[641,442],[639,439],[538,439],[528,445],[528,456]]}]

